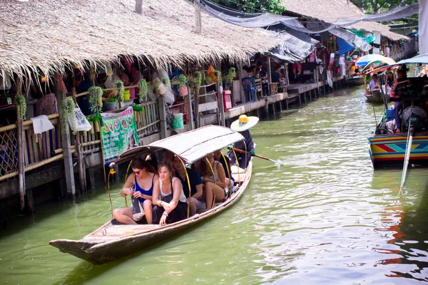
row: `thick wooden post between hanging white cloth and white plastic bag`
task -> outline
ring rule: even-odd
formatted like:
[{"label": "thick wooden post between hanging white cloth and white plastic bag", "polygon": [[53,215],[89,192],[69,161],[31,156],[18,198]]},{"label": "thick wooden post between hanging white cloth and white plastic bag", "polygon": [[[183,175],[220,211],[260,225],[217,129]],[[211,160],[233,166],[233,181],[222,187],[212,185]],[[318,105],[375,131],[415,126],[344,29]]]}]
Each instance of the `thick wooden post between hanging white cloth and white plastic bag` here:
[{"label": "thick wooden post between hanging white cloth and white plastic bag", "polygon": [[[55,95],[58,100],[58,106],[62,105],[63,100],[66,99],[65,91],[61,90],[59,86],[59,73],[56,73],[54,78],[55,83]],[[65,120],[65,122],[63,122]],[[67,193],[76,198],[76,187],[74,185],[74,172],[73,172],[73,157],[71,157],[71,140],[70,140],[70,128],[68,127],[68,118],[65,114],[60,116],[61,126],[66,125],[66,129],[61,128],[61,145],[63,148],[63,159],[64,159],[64,173],[66,175],[66,187]]]}]

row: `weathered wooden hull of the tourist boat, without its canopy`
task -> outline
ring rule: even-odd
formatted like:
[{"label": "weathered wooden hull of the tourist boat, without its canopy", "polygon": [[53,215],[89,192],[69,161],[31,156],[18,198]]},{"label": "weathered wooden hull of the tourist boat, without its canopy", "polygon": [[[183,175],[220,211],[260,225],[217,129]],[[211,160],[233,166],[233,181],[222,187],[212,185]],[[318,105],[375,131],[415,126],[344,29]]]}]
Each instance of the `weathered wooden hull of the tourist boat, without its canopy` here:
[{"label": "weathered wooden hull of the tourist boat, without its canopy", "polygon": [[171,239],[173,236],[195,227],[201,222],[208,221],[208,219],[238,202],[250,182],[252,169],[253,161],[250,161],[245,180],[230,199],[220,204],[216,203],[217,207],[201,214],[195,214],[189,219],[163,227],[147,224],[113,225],[112,221],[109,221],[91,234],[83,237],[83,239],[56,239],[49,242],[49,244],[57,247],[61,252],[72,254],[92,264],[105,264],[126,257],[153,244]]}]

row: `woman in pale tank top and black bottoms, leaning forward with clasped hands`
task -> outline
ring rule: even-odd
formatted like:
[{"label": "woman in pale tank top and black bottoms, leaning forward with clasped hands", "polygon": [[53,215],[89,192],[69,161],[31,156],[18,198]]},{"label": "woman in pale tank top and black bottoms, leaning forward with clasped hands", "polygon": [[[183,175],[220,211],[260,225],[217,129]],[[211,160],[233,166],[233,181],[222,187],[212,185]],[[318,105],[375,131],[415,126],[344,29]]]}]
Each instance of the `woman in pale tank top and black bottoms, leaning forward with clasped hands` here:
[{"label": "woman in pale tank top and black bottoms, leaning forward with clasped hands", "polygon": [[159,179],[153,186],[153,223],[161,226],[181,221],[187,217],[188,199],[183,185],[173,176],[173,169],[167,163],[158,165]]}]

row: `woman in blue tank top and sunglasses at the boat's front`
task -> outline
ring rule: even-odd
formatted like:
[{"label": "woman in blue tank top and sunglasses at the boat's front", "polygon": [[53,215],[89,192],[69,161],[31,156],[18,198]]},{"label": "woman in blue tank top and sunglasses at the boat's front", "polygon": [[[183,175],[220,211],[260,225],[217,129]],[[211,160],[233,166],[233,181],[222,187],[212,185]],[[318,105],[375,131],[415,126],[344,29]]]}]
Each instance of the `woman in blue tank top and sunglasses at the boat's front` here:
[{"label": "woman in blue tank top and sunglasses at the boat's front", "polygon": [[[158,180],[158,175],[151,172],[151,165],[141,158],[134,159],[131,163],[131,168],[133,173],[129,175],[125,185],[123,185],[121,196],[135,198],[133,207],[115,209],[113,217],[122,224],[137,224],[145,215],[147,223],[151,224],[153,222],[153,184]],[[141,211],[141,208],[143,211]]]}]

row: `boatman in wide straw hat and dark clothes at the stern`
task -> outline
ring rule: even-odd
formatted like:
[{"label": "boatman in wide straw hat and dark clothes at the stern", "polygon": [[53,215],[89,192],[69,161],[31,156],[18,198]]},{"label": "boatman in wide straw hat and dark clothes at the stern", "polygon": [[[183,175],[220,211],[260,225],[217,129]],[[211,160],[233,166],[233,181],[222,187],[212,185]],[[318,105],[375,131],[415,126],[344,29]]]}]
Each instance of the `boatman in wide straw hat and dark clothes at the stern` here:
[{"label": "boatman in wide straw hat and dark clothes at the stern", "polygon": [[[230,125],[230,129],[235,130],[235,132],[240,133],[244,137],[244,140],[235,142],[233,145],[228,146],[228,157],[230,158],[230,163],[232,165],[236,164],[236,159],[238,158],[239,167],[245,169],[247,168],[251,157],[255,155],[254,142],[253,138],[251,138],[249,129],[253,128],[255,124],[258,123],[258,120],[258,117],[247,117],[247,115],[240,115],[239,119],[235,120],[235,122]],[[237,151],[233,152],[233,147],[244,150],[248,153]]]}]

